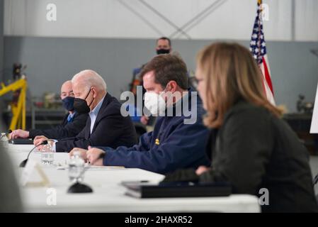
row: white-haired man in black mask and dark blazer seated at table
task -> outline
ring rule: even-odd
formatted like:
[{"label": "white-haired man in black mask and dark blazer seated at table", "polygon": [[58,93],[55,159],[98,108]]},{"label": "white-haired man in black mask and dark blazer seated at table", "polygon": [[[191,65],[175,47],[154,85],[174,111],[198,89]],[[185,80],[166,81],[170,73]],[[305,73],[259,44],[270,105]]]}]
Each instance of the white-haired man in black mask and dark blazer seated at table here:
[{"label": "white-haired man in black mask and dark blazer seated at table", "polygon": [[[74,109],[79,114],[89,114],[84,129],[74,138],[49,140],[53,150],[69,152],[73,148],[91,146],[108,146],[117,148],[120,145],[132,146],[137,143],[135,127],[130,116],[120,114],[120,103],[107,92],[106,82],[93,70],[84,70],[72,79],[75,95]],[[39,145],[48,138],[34,140]],[[41,146],[39,146],[39,150]]]}]

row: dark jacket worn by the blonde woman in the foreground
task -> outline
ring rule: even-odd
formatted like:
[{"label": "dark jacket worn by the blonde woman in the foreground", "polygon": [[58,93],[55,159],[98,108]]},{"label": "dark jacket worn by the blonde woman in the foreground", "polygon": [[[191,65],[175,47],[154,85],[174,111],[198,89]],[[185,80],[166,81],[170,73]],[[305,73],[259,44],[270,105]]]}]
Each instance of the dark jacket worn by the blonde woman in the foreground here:
[{"label": "dark jacket worn by the blonde woman in the foreground", "polygon": [[[218,131],[211,131],[211,170],[200,177],[189,170],[167,176],[201,182],[228,181],[233,193],[263,196],[268,189],[268,212],[317,211],[309,155],[285,121],[263,107],[239,101]],[[178,175],[178,177],[176,177]]]}]

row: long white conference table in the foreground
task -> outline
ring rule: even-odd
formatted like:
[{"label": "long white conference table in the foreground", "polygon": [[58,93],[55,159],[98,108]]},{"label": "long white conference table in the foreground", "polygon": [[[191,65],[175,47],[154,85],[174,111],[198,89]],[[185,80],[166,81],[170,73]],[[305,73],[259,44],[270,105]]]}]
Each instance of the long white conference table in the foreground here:
[{"label": "long white conference table in the foreground", "polygon": [[[8,145],[16,175],[21,178],[23,168],[18,167],[33,145]],[[53,165],[40,162],[40,152],[31,153],[30,159],[39,163],[50,181],[46,187],[23,187],[21,194],[26,212],[260,212],[259,199],[248,194],[220,197],[137,199],[125,195],[120,182],[147,180],[157,183],[164,178],[154,172],[123,167],[90,167],[84,173],[84,184],[92,193],[69,194],[67,153],[55,153]],[[33,171],[36,179],[36,171]]]}]

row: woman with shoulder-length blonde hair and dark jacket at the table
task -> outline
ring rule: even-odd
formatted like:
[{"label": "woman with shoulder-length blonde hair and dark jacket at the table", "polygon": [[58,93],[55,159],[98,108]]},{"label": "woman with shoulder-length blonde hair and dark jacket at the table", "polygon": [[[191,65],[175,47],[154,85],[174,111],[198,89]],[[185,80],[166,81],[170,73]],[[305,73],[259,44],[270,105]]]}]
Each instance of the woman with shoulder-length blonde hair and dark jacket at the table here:
[{"label": "woman with shoulder-length blonde hair and dark jacket at the table", "polygon": [[211,167],[178,170],[165,181],[230,182],[235,194],[261,196],[262,211],[317,211],[308,153],[264,94],[262,74],[249,50],[215,43],[197,57],[198,92],[211,128]]}]

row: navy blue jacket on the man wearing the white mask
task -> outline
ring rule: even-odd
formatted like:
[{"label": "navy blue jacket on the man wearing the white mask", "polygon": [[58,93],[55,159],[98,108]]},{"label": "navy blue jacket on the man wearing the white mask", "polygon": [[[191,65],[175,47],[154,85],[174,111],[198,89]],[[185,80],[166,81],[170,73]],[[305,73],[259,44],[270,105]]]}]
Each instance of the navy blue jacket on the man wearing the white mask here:
[{"label": "navy blue jacket on the man wearing the white mask", "polygon": [[[189,92],[193,90],[190,89]],[[208,129],[203,126],[204,114],[200,97],[197,99],[197,121],[193,124],[185,124],[186,117],[162,116],[157,118],[154,131],[144,133],[140,137],[140,143],[132,148],[120,146],[117,149],[101,148],[106,151],[103,159],[104,165],[119,165],[130,168],[140,168],[152,172],[164,174],[179,168],[196,168],[200,165],[209,165],[210,161],[205,153],[205,145],[208,140]],[[182,103],[181,101],[178,104]],[[176,105],[178,105],[176,104]],[[176,111],[174,106],[174,111]]]}]

